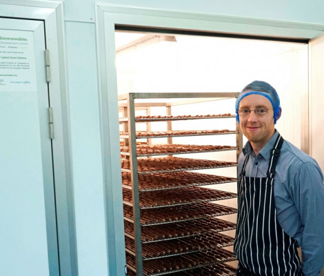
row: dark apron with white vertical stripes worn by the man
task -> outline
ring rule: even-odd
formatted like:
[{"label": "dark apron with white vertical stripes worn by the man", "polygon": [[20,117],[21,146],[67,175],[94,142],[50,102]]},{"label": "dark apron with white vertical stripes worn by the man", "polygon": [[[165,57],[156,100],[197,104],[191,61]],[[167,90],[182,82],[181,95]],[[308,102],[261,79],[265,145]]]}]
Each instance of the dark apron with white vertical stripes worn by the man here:
[{"label": "dark apron with white vertical stripes worn by the man", "polygon": [[297,242],[281,228],[274,206],[274,173],[282,144],[279,135],[270,153],[267,177],[246,177],[249,155],[245,157],[238,182],[237,275],[301,275]]}]

